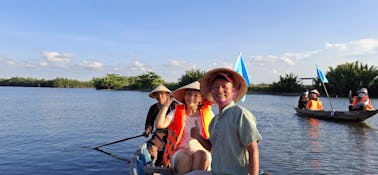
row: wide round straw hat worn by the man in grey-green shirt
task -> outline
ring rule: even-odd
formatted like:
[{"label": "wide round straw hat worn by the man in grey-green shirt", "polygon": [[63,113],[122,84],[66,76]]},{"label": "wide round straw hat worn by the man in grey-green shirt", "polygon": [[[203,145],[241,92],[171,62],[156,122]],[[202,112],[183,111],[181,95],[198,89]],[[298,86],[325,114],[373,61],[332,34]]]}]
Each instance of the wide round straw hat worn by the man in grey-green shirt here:
[{"label": "wide round straw hat worn by the man in grey-green shirt", "polygon": [[215,102],[211,95],[211,84],[216,76],[223,76],[229,81],[233,82],[234,88],[237,90],[237,94],[234,98],[234,102],[240,101],[247,93],[248,87],[244,78],[237,72],[228,68],[216,68],[208,71],[201,79],[201,93],[205,98],[211,102]]}]

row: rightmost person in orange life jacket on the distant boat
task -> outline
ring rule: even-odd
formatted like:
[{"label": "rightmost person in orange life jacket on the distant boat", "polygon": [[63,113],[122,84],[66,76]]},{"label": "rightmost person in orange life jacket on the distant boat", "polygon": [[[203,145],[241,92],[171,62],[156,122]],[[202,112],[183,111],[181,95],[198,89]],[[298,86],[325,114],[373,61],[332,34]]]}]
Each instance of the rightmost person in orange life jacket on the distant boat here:
[{"label": "rightmost person in orange life jacket on the distant boat", "polygon": [[357,91],[357,96],[354,96],[351,104],[349,105],[349,111],[357,110],[374,110],[371,100],[368,95],[368,90],[366,88],[361,88]]}]

